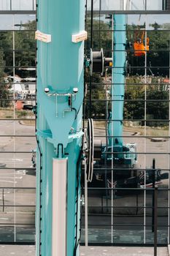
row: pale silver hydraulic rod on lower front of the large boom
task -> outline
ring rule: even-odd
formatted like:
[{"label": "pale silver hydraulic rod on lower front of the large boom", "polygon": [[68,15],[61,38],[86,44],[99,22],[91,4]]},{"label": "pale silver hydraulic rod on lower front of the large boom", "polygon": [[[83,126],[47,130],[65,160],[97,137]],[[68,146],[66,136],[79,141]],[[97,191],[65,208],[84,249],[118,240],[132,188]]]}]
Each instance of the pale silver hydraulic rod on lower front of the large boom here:
[{"label": "pale silver hydraulic rod on lower front of the large boom", "polygon": [[52,256],[66,256],[68,159],[53,158]]}]

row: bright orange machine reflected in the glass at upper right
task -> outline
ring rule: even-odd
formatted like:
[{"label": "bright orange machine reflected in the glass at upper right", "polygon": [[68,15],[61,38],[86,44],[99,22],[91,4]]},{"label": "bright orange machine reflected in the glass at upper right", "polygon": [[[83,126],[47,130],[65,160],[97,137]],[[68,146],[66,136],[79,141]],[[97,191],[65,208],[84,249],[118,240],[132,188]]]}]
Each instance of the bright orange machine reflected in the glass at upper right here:
[{"label": "bright orange machine reflected in the glass at upper right", "polygon": [[144,56],[146,54],[146,51],[149,50],[149,43],[150,43],[150,39],[149,37],[147,37],[147,44],[146,44],[146,48],[144,45],[144,31],[142,32],[142,37],[138,38],[135,40],[134,42],[134,56]]}]

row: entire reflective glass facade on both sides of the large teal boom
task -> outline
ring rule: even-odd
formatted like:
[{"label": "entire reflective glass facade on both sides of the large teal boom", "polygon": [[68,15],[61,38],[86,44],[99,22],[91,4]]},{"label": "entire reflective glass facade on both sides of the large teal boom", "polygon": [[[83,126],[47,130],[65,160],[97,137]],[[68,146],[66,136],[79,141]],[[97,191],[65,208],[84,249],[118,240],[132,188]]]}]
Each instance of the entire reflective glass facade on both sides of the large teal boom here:
[{"label": "entire reflective glass facade on both sides of the large teal boom", "polygon": [[[115,152],[108,149],[108,140],[115,136],[113,129],[108,134],[109,111],[114,101],[113,67],[108,67],[105,78],[87,76],[85,118],[94,119],[95,140],[101,140],[103,158],[95,160],[93,181],[88,183],[86,220],[85,206],[82,206],[82,243],[88,233],[89,244],[153,244],[155,182],[158,184],[158,244],[169,243],[168,4],[169,1],[158,0],[93,1],[91,29],[91,1],[88,0],[87,56],[92,45],[93,50],[103,48],[104,56],[112,57],[114,34],[120,32],[115,29],[114,15],[116,12],[125,15],[127,63],[121,138],[124,145],[136,144],[137,161],[133,168],[115,165],[112,161]],[[35,10],[35,0],[0,0],[0,243],[34,242]],[[138,38],[142,38],[145,47],[141,56],[134,49]],[[122,67],[115,68],[119,72]],[[155,176],[152,159],[155,159]],[[82,170],[82,187],[83,178]],[[82,194],[84,190],[83,187]]]}]

